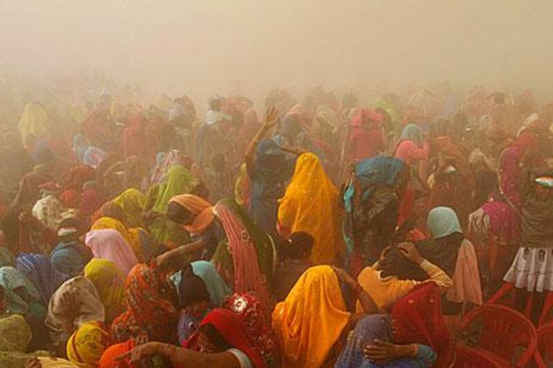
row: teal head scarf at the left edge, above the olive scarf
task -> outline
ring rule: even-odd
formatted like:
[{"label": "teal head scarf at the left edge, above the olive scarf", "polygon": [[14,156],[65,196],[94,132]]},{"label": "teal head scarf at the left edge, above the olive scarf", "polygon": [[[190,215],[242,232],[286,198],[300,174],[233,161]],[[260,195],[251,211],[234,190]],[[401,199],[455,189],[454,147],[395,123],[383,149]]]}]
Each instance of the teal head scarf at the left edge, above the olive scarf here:
[{"label": "teal head scarf at the left edge, above the olive scarf", "polygon": [[[18,269],[10,266],[0,267],[0,286],[4,288],[8,314],[26,315],[44,312],[44,307],[39,308],[41,311],[37,309],[40,302],[39,291]],[[22,292],[15,293],[15,289]]]}]

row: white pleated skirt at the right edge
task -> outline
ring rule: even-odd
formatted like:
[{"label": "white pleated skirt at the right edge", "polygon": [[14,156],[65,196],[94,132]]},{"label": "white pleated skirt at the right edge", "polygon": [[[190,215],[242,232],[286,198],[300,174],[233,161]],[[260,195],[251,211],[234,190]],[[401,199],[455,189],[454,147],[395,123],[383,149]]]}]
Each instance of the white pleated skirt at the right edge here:
[{"label": "white pleated skirt at the right edge", "polygon": [[505,282],[527,291],[553,291],[553,249],[520,248],[505,273]]}]

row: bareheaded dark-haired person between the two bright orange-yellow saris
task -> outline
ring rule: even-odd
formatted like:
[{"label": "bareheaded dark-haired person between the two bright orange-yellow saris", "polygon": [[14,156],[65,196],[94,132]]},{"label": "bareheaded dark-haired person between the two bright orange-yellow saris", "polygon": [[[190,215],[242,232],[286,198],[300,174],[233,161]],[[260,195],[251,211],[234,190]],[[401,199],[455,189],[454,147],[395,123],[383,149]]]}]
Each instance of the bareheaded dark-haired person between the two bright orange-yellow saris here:
[{"label": "bareheaded dark-haired person between the two bright orange-yellow saris", "polygon": [[282,302],[294,284],[310,267],[313,237],[304,231],[292,233],[279,246],[281,264],[274,274],[274,298]]}]

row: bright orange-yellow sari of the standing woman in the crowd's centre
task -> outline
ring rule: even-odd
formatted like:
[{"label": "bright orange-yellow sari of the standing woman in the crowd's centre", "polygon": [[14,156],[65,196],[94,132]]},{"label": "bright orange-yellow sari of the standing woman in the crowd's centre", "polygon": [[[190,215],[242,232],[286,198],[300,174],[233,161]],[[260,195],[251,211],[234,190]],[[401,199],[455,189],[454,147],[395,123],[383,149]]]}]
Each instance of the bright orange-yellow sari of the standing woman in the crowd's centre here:
[{"label": "bright orange-yellow sari of the standing woman in the crowd's centre", "polygon": [[313,237],[310,261],[330,264],[344,250],[342,211],[338,191],[319,158],[304,153],[296,162],[292,180],[279,201],[279,226],[287,233],[305,231]]}]

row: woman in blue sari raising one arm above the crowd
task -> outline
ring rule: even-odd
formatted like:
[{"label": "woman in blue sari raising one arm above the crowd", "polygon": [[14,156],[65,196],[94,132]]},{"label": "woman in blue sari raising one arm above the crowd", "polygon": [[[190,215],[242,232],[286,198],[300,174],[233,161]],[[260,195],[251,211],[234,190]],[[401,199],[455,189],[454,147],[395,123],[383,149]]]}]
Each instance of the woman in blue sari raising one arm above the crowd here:
[{"label": "woman in blue sari raising one arm above the crowd", "polygon": [[279,198],[284,195],[294,167],[292,159],[272,139],[260,143],[276,123],[276,110],[271,109],[245,152],[247,173],[252,181],[250,213],[259,227],[273,238],[277,236]]}]

